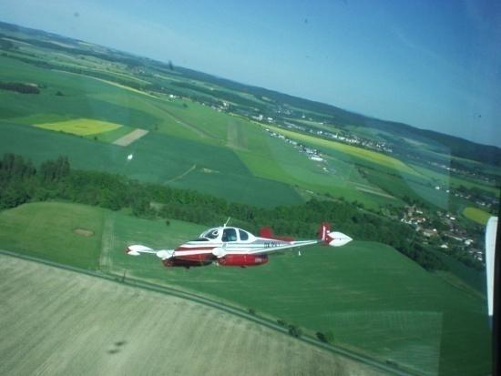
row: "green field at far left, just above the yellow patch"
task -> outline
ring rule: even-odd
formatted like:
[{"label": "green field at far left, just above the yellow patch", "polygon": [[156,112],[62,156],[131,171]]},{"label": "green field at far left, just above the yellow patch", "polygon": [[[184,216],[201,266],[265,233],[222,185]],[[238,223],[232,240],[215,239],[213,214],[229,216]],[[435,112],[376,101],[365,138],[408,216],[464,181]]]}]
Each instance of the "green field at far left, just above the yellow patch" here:
[{"label": "green field at far left, just above the yellow patch", "polygon": [[[122,87],[87,76],[63,75],[50,69],[0,56],[0,80],[44,86],[38,95],[20,97],[0,90],[0,118],[13,124],[52,123],[75,118],[93,118],[130,127],[153,128],[161,123],[141,106],[129,106],[144,97]],[[62,96],[57,96],[60,92]],[[97,96],[97,97],[96,97]],[[102,98],[101,98],[102,97]],[[107,100],[116,98],[115,102]],[[148,99],[153,99],[149,98]]]}]

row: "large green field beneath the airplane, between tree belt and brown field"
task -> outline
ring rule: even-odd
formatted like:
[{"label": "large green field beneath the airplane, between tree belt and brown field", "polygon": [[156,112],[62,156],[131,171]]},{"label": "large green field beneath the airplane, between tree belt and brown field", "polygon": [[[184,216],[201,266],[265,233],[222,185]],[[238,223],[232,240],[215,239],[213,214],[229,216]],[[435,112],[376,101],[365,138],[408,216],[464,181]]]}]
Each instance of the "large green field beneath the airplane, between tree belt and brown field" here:
[{"label": "large green field beneath the airplane, between tree belt and brown field", "polygon": [[[30,238],[13,250],[36,254],[36,249],[46,249],[41,256],[63,260],[66,244],[92,238],[77,236],[71,229],[85,228],[87,222],[56,226],[50,214],[56,211],[64,217],[83,209],[93,221],[104,218],[101,242],[93,239],[86,247],[91,258],[100,254],[98,268],[104,272],[118,276],[126,272],[129,277],[197,291],[298,324],[312,334],[332,330],[337,345],[425,374],[488,371],[486,301],[382,244],[353,241],[341,249],[305,249],[301,257],[295,252],[277,255],[260,268],[165,269],[155,257],[132,258],[123,249],[131,243],[174,247],[199,234],[200,226],[171,221],[167,227],[161,220],[62,203],[28,204],[3,212],[0,220],[12,226],[8,230],[0,226],[0,243],[15,245],[16,233],[26,239],[16,229],[37,215]],[[58,240],[50,243],[51,238]],[[94,268],[96,263],[97,259],[88,265]]]}]

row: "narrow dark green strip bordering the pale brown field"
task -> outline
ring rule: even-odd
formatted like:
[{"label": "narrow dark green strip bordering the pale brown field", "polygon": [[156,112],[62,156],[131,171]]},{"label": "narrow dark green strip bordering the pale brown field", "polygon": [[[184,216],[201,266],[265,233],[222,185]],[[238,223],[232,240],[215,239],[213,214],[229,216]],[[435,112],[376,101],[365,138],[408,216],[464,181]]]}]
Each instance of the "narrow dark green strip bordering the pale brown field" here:
[{"label": "narrow dark green strip bordering the pale brown field", "polygon": [[[90,277],[107,279],[111,282],[115,282],[115,283],[119,283],[119,284],[123,284],[123,285],[128,285],[130,287],[137,287],[139,289],[150,290],[150,291],[158,292],[160,294],[163,293],[163,294],[167,294],[167,295],[172,295],[172,296],[178,297],[180,299],[195,301],[195,302],[198,302],[200,304],[215,308],[217,310],[223,310],[225,312],[237,315],[242,319],[251,320],[252,322],[261,324],[261,325],[263,325],[271,330],[280,331],[284,334],[289,335],[288,328],[284,328],[281,325],[279,325],[271,320],[267,320],[264,318],[260,318],[260,317],[251,315],[250,313],[247,313],[245,310],[241,310],[240,308],[232,307],[226,303],[220,303],[216,300],[211,300],[209,298],[205,298],[203,296],[193,294],[193,293],[190,293],[187,291],[173,289],[173,288],[169,288],[167,286],[160,286],[160,285],[156,285],[154,283],[142,281],[139,279],[124,278],[124,277],[119,277],[118,275],[107,274],[107,273],[103,273],[100,271],[77,268],[77,267],[73,267],[70,265],[60,264],[60,263],[55,262],[55,261],[50,261],[47,259],[39,259],[39,258],[36,258],[33,256],[27,256],[27,255],[24,255],[21,253],[17,253],[17,252],[5,250],[5,249],[0,249],[0,255],[15,257],[17,259],[26,259],[27,261],[45,264],[45,265],[50,266],[50,267],[54,267],[54,268],[58,268],[58,269],[65,269],[65,270],[69,270],[69,271],[75,271],[75,272],[80,273],[80,274],[86,274],[87,276],[90,276]],[[388,364],[382,363],[380,361],[376,361],[370,357],[358,354],[358,353],[351,351],[351,350],[344,349],[340,346],[334,346],[334,345],[331,345],[329,343],[321,342],[321,341],[316,340],[315,338],[310,337],[310,336],[302,335],[301,337],[296,337],[296,339],[302,340],[303,342],[309,343],[313,346],[316,346],[317,348],[321,348],[322,350],[331,351],[332,353],[341,355],[341,356],[348,358],[352,361],[361,362],[367,366],[371,366],[371,367],[377,369],[378,371],[385,371],[385,372],[389,372],[389,373],[394,374],[394,375],[401,375],[401,376],[424,376],[424,374],[422,374],[422,373],[418,373],[415,371],[409,371],[409,370],[401,368],[401,367],[392,367]]]}]

